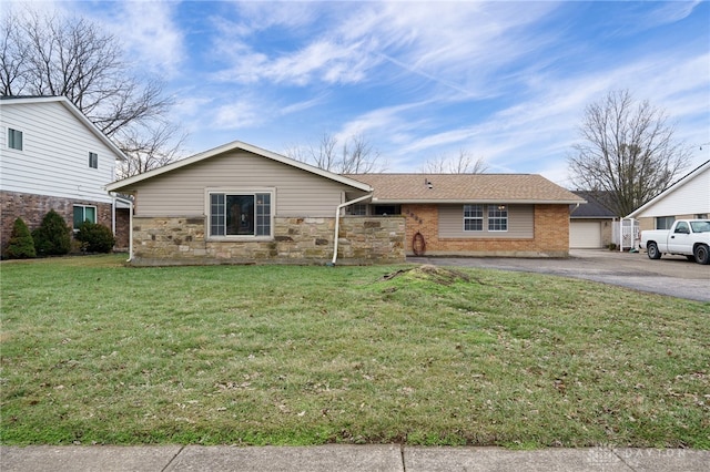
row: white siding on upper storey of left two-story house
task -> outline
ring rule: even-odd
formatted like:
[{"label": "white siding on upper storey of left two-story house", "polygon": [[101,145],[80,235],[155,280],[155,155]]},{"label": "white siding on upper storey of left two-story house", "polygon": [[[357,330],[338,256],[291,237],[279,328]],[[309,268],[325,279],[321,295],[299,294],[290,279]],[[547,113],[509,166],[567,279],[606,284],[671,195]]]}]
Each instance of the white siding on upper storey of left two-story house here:
[{"label": "white siding on upper storey of left two-story house", "polygon": [[[111,203],[116,155],[59,102],[0,103],[0,189]],[[8,129],[22,132],[9,148]],[[99,156],[89,166],[89,153]]]}]

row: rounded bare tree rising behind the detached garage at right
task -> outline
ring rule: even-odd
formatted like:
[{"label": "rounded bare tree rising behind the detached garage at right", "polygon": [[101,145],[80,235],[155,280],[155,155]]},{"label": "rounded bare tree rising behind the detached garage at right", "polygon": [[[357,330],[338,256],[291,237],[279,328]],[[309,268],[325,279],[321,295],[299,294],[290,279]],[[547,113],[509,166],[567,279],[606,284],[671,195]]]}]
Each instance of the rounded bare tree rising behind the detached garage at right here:
[{"label": "rounded bare tree rising behind the detached garage at right", "polygon": [[588,105],[579,132],[585,142],[568,157],[572,182],[620,217],[668,188],[690,163],[666,112],[637,103],[627,90]]}]

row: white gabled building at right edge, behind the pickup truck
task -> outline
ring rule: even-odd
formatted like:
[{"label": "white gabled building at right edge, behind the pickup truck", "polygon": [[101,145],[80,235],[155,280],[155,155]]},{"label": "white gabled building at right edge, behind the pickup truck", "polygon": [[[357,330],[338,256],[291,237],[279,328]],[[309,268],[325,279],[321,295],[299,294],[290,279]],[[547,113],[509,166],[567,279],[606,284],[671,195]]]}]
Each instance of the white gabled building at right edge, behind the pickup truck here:
[{"label": "white gabled building at right edge, behind the pickup truck", "polygon": [[696,167],[666,191],[628,215],[641,230],[668,229],[676,219],[710,216],[710,161]]}]

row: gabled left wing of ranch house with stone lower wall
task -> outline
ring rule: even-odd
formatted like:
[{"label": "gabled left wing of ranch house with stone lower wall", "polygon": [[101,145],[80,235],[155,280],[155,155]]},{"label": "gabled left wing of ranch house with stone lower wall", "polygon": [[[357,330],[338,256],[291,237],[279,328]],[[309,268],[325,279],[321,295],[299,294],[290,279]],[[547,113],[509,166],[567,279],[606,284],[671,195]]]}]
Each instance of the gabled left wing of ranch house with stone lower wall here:
[{"label": "gabled left wing of ranch house with stone lower wall", "polygon": [[242,142],[106,188],[134,197],[134,265],[405,260],[403,217],[341,218],[369,185]]}]

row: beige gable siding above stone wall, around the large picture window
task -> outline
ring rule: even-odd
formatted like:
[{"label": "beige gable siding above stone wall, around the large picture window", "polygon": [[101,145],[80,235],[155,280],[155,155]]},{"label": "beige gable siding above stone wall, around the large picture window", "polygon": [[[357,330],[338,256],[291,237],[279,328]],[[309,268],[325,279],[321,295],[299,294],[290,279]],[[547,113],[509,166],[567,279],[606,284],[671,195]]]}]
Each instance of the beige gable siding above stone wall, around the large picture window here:
[{"label": "beige gable siding above stone wall, around the large picture window", "polygon": [[135,192],[136,216],[202,216],[205,191],[275,188],[275,216],[335,216],[352,188],[320,175],[235,151],[126,187]]}]

